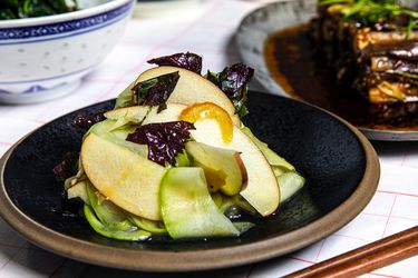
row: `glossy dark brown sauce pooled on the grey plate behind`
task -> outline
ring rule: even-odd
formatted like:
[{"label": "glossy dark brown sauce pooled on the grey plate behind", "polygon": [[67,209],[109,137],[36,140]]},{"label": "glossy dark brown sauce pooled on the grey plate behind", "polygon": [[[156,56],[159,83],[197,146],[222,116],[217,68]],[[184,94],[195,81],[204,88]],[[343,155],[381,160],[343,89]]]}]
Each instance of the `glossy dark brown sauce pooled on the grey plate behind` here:
[{"label": "glossy dark brown sauce pooled on the grey plate behind", "polygon": [[349,86],[337,85],[334,72],[317,54],[307,24],[272,34],[264,46],[264,59],[276,82],[297,99],[360,128],[418,130],[418,102],[371,105]]}]

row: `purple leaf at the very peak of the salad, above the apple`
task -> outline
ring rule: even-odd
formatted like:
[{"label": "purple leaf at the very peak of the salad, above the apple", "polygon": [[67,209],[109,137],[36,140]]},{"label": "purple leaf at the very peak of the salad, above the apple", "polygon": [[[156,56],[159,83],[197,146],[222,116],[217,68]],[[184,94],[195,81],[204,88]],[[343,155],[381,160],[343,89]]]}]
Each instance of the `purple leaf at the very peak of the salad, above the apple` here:
[{"label": "purple leaf at the very peak of the salad, above the apple", "polygon": [[187,69],[201,75],[202,71],[202,57],[195,53],[175,53],[172,56],[163,56],[154,58],[148,63],[155,63],[158,66],[174,66],[183,69]]}]

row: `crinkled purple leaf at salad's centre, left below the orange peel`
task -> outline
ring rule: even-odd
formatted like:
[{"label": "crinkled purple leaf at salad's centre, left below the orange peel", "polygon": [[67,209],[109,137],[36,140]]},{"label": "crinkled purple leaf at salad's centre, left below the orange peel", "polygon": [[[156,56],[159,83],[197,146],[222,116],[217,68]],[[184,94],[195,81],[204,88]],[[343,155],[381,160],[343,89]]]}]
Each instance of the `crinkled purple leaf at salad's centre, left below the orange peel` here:
[{"label": "crinkled purple leaf at salad's centre, left below the orange peel", "polygon": [[165,162],[174,166],[176,155],[184,149],[191,137],[191,129],[195,128],[187,121],[148,123],[138,127],[126,140],[147,145],[149,160],[162,166]]}]

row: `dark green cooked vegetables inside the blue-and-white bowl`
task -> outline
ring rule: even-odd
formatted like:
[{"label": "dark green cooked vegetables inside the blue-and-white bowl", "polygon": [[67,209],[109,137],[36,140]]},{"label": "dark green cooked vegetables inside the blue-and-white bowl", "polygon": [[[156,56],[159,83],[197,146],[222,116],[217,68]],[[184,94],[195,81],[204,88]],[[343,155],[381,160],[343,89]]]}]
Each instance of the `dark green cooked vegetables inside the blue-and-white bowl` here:
[{"label": "dark green cooked vegetables inside the blue-and-white bowl", "polygon": [[54,16],[77,9],[77,0],[2,0],[0,20]]}]

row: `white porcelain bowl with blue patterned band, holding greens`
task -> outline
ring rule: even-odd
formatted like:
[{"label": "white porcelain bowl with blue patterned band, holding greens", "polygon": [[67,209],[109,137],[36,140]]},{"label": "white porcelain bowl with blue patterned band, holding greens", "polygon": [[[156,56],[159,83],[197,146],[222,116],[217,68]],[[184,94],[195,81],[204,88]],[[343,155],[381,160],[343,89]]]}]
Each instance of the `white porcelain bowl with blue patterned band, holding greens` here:
[{"label": "white porcelain bowl with blue patterned band, holding greens", "polygon": [[39,102],[76,89],[114,48],[135,3],[79,2],[85,9],[0,21],[0,102]]}]

